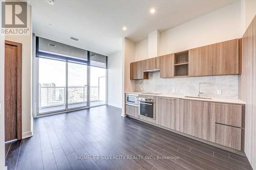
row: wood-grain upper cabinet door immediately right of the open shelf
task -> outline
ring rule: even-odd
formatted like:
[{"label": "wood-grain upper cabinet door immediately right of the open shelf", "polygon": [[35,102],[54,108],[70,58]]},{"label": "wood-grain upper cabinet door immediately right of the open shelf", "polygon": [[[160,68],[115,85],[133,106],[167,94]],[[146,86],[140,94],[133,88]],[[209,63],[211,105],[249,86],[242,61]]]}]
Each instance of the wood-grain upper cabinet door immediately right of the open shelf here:
[{"label": "wood-grain upper cabinet door immediately right of the open shelf", "polygon": [[210,45],[190,50],[189,76],[209,76],[211,74]]}]

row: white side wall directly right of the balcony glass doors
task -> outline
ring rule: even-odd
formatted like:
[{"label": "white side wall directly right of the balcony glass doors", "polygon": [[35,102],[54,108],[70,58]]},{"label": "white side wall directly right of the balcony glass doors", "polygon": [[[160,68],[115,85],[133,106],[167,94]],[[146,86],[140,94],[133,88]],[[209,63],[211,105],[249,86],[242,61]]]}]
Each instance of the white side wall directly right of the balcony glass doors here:
[{"label": "white side wall directly right of the balcony glass doors", "polygon": [[108,105],[122,108],[122,51],[108,56]]}]

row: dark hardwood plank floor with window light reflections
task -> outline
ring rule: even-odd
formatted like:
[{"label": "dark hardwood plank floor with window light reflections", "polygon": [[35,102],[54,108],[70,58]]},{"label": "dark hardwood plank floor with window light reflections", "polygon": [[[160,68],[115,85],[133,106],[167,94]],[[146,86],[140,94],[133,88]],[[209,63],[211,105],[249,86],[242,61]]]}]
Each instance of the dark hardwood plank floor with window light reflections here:
[{"label": "dark hardwood plank floor with window light reflections", "polygon": [[[35,118],[33,137],[6,143],[6,165],[26,170],[252,169],[246,157],[120,114],[119,108],[101,106]],[[107,159],[112,155],[126,157]]]}]

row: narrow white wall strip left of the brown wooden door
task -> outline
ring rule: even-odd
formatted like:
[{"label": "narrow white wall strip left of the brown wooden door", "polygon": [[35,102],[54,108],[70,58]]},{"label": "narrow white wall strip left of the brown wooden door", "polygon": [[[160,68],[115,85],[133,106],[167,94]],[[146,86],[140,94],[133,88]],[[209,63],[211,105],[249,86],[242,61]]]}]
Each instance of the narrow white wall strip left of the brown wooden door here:
[{"label": "narrow white wall strip left of the brown wooden door", "polygon": [[[2,18],[0,14],[0,18]],[[1,19],[0,19],[1,21]],[[2,21],[1,21],[2,23]],[[5,36],[0,34],[0,169],[5,168]]]}]

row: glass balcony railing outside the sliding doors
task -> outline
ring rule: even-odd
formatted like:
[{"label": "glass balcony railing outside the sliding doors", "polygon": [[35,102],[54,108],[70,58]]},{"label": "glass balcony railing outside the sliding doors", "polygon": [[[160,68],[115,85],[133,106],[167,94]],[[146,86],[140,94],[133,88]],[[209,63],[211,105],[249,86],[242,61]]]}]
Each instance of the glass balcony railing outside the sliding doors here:
[{"label": "glass balcony railing outside the sliding doors", "polygon": [[[91,101],[99,100],[99,87],[90,87]],[[39,109],[66,104],[66,87],[39,87]],[[68,87],[68,105],[87,103],[87,86]]]}]

